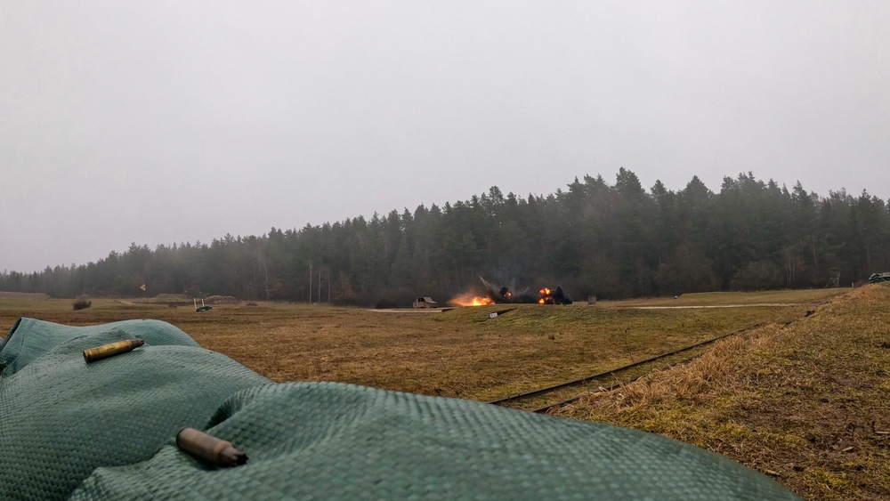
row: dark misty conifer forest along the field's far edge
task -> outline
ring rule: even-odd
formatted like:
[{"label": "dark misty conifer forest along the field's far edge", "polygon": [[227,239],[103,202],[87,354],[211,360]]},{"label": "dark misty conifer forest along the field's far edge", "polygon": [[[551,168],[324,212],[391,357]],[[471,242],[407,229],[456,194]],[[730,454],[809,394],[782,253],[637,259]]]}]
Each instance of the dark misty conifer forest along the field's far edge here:
[{"label": "dark misty conifer forest along the field's far edge", "polygon": [[[621,168],[615,183],[576,178],[544,196],[497,187],[466,201],[343,222],[272,228],[210,243],[133,244],[96,263],[4,271],[0,290],[56,297],[162,293],[372,304],[443,301],[478,276],[514,287],[618,298],[714,290],[823,287],[890,270],[890,210],[865,190],[827,197],[753,174],[698,177],[647,192]],[[146,292],[140,290],[145,284]]]}]

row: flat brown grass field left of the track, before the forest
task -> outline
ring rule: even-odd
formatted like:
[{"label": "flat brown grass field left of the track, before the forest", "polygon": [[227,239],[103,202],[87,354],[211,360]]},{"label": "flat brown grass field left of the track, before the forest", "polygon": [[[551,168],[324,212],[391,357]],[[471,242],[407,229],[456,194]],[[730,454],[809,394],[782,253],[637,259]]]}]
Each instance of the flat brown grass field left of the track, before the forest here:
[{"label": "flat brown grass field left of the track, before the forest", "polygon": [[69,304],[2,302],[0,328],[20,316],[69,325],[162,319],[274,381],[342,381],[476,400],[588,376],[765,319],[800,316],[805,309],[522,305],[483,319],[503,307],[431,314],[259,303],[196,313],[190,307],[120,300],[95,300],[88,311],[69,311]]}]

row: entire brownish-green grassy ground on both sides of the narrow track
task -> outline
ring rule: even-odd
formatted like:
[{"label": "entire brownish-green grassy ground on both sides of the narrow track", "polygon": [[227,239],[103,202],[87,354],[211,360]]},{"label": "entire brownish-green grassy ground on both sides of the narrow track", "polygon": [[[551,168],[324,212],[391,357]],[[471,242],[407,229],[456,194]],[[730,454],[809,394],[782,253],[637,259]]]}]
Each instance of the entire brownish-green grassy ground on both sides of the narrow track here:
[{"label": "entire brownish-green grassy ground on both sides of the narrow track", "polygon": [[[674,308],[641,309],[653,306]],[[883,400],[890,391],[890,287],[520,305],[488,317],[506,308],[259,303],[196,313],[93,300],[92,308],[72,311],[70,300],[0,295],[0,330],[22,316],[69,325],[162,319],[275,381],[491,400],[764,324],[687,365],[554,414],[689,441],[806,498],[890,499],[890,407]]]}]

